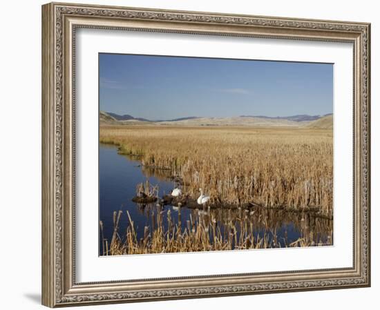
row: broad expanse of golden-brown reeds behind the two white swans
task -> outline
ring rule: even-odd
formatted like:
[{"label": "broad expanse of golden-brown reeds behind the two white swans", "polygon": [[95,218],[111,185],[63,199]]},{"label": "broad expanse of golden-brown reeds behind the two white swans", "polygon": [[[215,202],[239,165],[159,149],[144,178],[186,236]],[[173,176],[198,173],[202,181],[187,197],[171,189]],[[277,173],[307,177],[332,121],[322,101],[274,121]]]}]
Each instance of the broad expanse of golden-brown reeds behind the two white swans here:
[{"label": "broad expanse of golden-brown reeds behind the two white swans", "polygon": [[100,126],[99,140],[167,169],[189,197],[211,204],[255,202],[332,215],[332,129]]}]

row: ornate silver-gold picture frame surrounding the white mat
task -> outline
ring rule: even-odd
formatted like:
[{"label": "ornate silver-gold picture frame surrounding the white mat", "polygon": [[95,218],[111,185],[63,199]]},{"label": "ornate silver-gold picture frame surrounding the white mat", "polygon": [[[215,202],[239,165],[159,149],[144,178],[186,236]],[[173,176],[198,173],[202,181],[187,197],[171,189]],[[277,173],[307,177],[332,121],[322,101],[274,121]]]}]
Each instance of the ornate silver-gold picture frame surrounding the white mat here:
[{"label": "ornate silver-gold picture frame surrounding the white mat", "polygon": [[[75,280],[75,34],[79,28],[350,42],[353,267],[81,283]],[[42,303],[48,307],[370,286],[370,24],[48,3],[42,6]]]}]

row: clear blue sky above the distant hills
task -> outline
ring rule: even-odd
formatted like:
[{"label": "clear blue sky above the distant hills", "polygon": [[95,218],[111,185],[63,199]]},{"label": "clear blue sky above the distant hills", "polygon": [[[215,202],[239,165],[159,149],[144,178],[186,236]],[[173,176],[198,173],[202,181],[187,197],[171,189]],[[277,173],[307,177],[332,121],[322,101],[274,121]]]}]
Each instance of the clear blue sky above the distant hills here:
[{"label": "clear blue sky above the distant hills", "polygon": [[332,113],[333,65],[99,54],[99,108],[147,119]]}]

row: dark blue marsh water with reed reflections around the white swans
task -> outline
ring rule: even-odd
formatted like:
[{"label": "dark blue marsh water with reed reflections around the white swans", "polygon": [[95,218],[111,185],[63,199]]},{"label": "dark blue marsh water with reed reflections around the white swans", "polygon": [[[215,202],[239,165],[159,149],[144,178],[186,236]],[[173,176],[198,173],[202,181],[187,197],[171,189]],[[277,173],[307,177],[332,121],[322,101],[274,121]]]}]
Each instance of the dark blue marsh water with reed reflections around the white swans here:
[{"label": "dark blue marsh water with reed reflections around the white swans", "polygon": [[[173,224],[186,228],[187,221],[196,219],[199,210],[178,208],[175,206],[157,206],[153,204],[137,204],[132,202],[136,195],[136,185],[138,183],[149,182],[158,185],[159,196],[169,194],[175,188],[175,182],[171,181],[165,171],[153,171],[141,166],[134,157],[126,157],[117,153],[117,146],[110,144],[99,145],[99,221],[103,222],[103,235],[99,231],[99,255],[102,255],[102,238],[111,242],[113,236],[113,212],[122,210],[119,223],[120,238],[129,225],[129,218],[126,211],[129,211],[137,232],[137,239],[143,238],[144,228],[154,226],[153,217],[162,211],[171,211]],[[211,209],[213,216],[218,221],[221,231],[223,225],[231,217],[244,217],[250,214],[250,222],[254,226],[254,234],[259,237],[269,235],[270,240],[276,240],[277,244],[287,246],[292,242],[311,236],[313,244],[320,242],[332,243],[332,221],[315,217],[310,213],[288,212],[268,210],[264,208],[245,211],[242,209]],[[249,212],[249,213],[248,213]],[[152,216],[153,215],[153,216]],[[167,220],[164,220],[167,229]],[[239,232],[239,227],[236,227]]]}]

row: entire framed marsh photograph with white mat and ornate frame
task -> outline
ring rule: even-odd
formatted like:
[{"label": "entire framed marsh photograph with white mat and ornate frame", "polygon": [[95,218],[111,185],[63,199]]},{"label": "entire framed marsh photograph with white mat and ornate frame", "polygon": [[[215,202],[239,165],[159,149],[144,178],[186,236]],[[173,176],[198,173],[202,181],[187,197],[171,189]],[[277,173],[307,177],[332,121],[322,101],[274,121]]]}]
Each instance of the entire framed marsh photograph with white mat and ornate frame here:
[{"label": "entire framed marsh photograph with white mat and ornate frame", "polygon": [[370,24],[42,6],[42,302],[370,286]]}]

